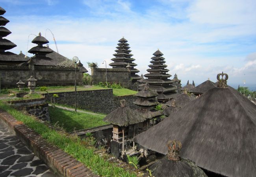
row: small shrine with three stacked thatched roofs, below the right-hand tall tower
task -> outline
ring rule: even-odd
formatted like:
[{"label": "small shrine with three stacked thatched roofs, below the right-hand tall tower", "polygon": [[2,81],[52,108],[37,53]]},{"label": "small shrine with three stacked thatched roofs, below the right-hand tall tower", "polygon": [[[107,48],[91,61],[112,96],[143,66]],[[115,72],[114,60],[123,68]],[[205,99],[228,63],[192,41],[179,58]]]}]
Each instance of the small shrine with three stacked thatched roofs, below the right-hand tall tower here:
[{"label": "small shrine with three stacked thatched roofs, below the right-hand tall tower", "polygon": [[154,109],[154,107],[159,104],[159,102],[156,101],[158,93],[149,90],[148,84],[145,84],[144,89],[139,91],[136,96],[138,99],[134,101],[134,104],[140,108],[135,111],[146,118],[144,122],[138,124],[138,133],[141,133],[150,128],[150,120],[152,120],[152,125],[154,125],[154,118],[160,118],[160,116],[163,115],[163,112]]}]

